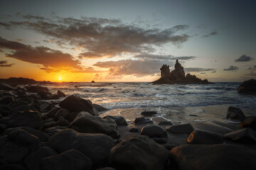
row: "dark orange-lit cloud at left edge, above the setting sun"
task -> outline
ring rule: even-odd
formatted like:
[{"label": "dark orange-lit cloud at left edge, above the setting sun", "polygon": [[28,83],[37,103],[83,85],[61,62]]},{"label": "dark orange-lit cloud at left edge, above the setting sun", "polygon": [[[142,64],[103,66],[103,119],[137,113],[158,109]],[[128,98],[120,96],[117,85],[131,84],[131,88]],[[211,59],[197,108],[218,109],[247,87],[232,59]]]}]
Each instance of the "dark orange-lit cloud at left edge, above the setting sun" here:
[{"label": "dark orange-lit cloud at left edge, above the setting sun", "polygon": [[48,47],[32,47],[31,45],[24,45],[21,42],[9,41],[0,37],[0,48],[12,50],[6,54],[6,57],[33,64],[42,64],[48,72],[50,72],[50,69],[64,68],[82,71],[80,61],[75,60],[72,55]]}]

